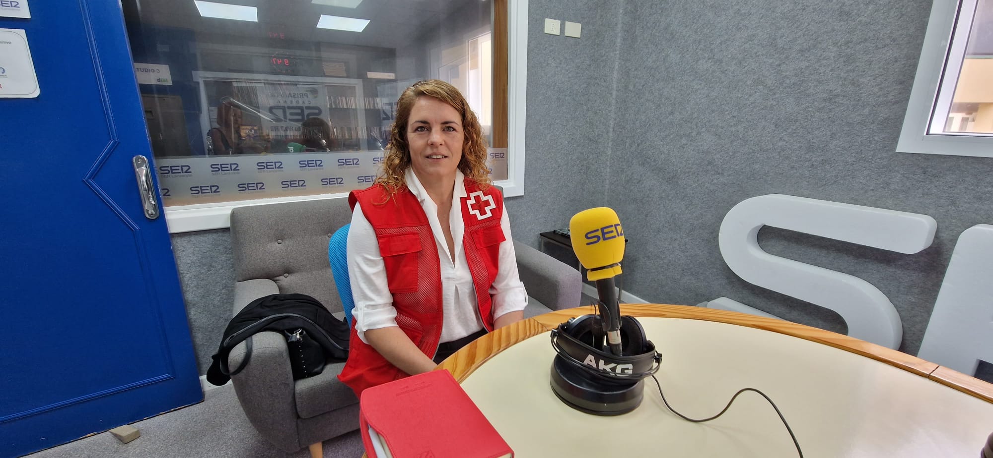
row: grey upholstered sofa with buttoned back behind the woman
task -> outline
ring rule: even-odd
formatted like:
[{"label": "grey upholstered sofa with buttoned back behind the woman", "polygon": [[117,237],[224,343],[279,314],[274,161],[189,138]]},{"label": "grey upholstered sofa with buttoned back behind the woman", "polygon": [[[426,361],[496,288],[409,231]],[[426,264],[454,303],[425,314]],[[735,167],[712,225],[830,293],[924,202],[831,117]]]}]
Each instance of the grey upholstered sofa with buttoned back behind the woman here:
[{"label": "grey upholstered sofa with buttoned back behind the woman", "polygon": [[[343,317],[328,263],[328,241],[351,218],[345,198],[231,211],[236,282],[232,312],[236,314],[263,295],[301,292]],[[516,241],[514,249],[520,280],[530,296],[525,316],[580,304],[579,272]],[[322,441],[358,428],[355,395],[336,377],[344,363],[329,365],[316,377],[294,381],[282,335],[262,332],[251,340],[249,362],[231,382],[245,414],[261,435],[285,452],[311,446],[312,455],[320,456]],[[229,367],[238,367],[244,356],[243,342],[230,352]]]}]

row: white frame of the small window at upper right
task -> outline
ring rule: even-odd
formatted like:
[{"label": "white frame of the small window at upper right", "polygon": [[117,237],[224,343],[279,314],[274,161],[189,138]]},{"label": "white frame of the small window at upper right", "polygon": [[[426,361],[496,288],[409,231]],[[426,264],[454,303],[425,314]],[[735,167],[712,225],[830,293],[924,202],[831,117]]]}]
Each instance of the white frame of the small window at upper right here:
[{"label": "white frame of the small window at upper right", "polygon": [[[948,70],[960,68],[961,60],[965,57],[964,42],[968,37],[960,39],[958,43],[953,42],[959,29],[959,10],[965,2],[972,2],[973,6],[976,3],[975,0],[934,0],[931,5],[921,58],[897,142],[898,153],[993,158],[993,136],[927,133],[931,117],[937,110],[941,81],[946,73],[952,72],[955,74],[951,75],[953,80],[950,83],[957,81],[957,71]],[[969,15],[971,17],[972,14]],[[957,59],[957,64],[947,65],[949,59]]]}]

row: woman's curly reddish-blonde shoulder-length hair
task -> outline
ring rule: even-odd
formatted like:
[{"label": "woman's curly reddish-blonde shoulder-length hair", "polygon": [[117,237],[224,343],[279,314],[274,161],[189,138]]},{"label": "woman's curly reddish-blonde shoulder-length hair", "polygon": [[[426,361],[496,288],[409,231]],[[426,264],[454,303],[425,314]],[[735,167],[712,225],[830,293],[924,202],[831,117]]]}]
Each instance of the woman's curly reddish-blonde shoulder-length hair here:
[{"label": "woman's curly reddish-blonde shoulder-length hair", "polygon": [[421,80],[406,88],[396,101],[396,120],[390,128],[389,144],[383,155],[382,172],[375,182],[386,187],[390,195],[406,185],[403,172],[410,167],[410,148],[407,144],[407,122],[414,102],[420,97],[434,97],[441,100],[462,116],[462,129],[465,143],[462,145],[462,160],[459,170],[467,178],[476,181],[481,188],[490,186],[490,170],[487,168],[487,141],[483,137],[483,127],[469,102],[455,86],[438,79]]}]

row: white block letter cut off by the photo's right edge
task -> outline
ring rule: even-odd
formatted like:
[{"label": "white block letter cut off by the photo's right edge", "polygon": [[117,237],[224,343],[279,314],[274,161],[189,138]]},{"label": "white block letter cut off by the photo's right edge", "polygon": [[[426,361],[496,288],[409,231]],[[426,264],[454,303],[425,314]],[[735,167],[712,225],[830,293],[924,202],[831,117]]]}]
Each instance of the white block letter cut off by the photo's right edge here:
[{"label": "white block letter cut off by the photo's right edge", "polygon": [[979,360],[993,362],[993,226],[978,224],[958,236],[934,301],[918,357],[965,374]]}]

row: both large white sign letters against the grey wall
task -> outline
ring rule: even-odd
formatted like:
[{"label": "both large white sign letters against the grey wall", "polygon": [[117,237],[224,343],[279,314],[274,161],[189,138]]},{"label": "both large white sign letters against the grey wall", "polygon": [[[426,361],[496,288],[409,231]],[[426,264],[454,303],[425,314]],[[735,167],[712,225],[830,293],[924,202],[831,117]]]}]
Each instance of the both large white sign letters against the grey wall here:
[{"label": "both large white sign letters against the grey wall", "polygon": [[[742,280],[836,311],[848,334],[889,348],[903,339],[900,314],[876,286],[854,276],[766,253],[759,229],[780,229],[913,255],[930,246],[937,222],[919,213],[790,195],[752,197],[721,223],[719,245]],[[962,232],[951,254],[918,356],[966,374],[993,362],[993,225]],[[720,297],[711,308],[771,316]]]}]

